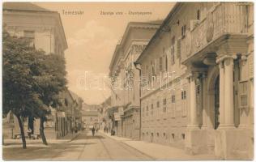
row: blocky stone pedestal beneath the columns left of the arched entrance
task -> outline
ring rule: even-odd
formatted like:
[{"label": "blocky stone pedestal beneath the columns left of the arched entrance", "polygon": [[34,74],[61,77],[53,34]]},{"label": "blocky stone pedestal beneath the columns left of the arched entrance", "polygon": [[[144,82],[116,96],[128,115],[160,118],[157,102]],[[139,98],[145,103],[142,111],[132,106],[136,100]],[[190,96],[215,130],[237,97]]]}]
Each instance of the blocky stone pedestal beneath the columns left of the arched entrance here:
[{"label": "blocky stone pedestal beneath the columns left of the arched entrance", "polygon": [[185,151],[196,155],[207,152],[207,130],[200,130],[197,126],[188,126],[186,130]]}]

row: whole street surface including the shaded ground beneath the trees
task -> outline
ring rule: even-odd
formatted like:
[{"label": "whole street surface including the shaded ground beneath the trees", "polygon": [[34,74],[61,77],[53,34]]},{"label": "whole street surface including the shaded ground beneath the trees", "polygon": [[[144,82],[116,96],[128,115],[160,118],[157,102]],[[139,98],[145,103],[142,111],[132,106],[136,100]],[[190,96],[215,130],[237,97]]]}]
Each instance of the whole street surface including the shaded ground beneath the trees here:
[{"label": "whole street surface including the shaded ground beneath the trees", "polygon": [[83,131],[70,143],[49,144],[48,147],[4,148],[5,160],[151,160],[125,143],[105,134]]}]

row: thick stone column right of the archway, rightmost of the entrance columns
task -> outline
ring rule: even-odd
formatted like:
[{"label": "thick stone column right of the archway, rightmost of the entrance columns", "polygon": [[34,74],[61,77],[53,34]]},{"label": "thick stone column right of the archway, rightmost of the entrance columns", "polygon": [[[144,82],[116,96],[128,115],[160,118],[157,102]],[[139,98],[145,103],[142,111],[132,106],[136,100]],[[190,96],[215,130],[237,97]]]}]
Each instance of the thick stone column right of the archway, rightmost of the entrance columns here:
[{"label": "thick stone column right of the archway, rightmost of the entrance columns", "polygon": [[[220,92],[221,93],[221,92]],[[225,126],[234,126],[234,100],[233,100],[233,58],[224,58],[224,107]]]}]

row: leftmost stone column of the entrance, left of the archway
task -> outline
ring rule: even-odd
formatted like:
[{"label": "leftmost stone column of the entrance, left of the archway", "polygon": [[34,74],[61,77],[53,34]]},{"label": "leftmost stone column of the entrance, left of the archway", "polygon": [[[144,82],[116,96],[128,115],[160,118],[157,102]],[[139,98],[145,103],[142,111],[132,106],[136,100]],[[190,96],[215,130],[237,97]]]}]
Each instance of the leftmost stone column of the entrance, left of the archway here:
[{"label": "leftmost stone column of the entrance, left of the archway", "polygon": [[195,81],[197,75],[193,74],[190,76],[190,123],[189,127],[198,127],[198,114],[197,114],[197,105],[196,105],[196,87]]}]

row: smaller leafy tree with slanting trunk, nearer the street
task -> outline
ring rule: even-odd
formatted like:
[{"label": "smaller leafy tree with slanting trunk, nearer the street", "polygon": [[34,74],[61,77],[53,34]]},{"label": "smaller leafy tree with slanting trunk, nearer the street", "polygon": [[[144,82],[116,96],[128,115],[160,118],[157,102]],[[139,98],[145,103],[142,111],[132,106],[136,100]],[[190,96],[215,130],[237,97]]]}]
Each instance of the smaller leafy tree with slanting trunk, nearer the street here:
[{"label": "smaller leafy tree with slanting trunk, nearer the street", "polygon": [[47,145],[44,133],[44,122],[50,114],[49,107],[57,108],[62,105],[59,100],[59,93],[66,89],[66,66],[65,59],[61,55],[44,55],[41,65],[34,68],[34,79],[36,79],[35,91],[40,94],[40,100],[45,104],[45,108],[40,109],[40,134],[42,141]]}]

